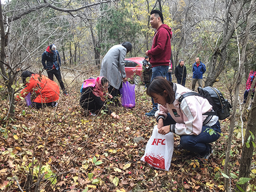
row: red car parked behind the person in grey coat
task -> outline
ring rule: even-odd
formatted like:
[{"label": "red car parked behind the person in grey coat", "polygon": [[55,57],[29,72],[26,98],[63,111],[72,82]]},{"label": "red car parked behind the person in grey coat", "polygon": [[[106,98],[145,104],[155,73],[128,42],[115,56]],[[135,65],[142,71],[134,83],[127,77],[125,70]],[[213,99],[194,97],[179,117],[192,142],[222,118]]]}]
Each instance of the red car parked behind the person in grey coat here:
[{"label": "red car parked behind the person in grey coat", "polygon": [[144,57],[125,58],[125,73],[126,77],[130,78],[135,84],[139,84],[142,79],[142,61]]}]

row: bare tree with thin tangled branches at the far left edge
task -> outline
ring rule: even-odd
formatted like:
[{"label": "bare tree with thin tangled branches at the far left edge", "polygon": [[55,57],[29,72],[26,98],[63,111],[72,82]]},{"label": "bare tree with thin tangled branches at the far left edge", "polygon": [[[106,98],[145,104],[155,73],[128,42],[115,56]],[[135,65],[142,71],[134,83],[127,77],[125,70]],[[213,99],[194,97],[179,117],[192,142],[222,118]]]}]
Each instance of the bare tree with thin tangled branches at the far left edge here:
[{"label": "bare tree with thin tangled branches at the far left edge", "polygon": [[[21,2],[20,5],[13,5],[12,2],[9,2],[9,4],[5,5],[8,10],[6,12],[3,12],[1,7],[1,18],[0,18],[0,28],[1,28],[1,62],[0,62],[0,68],[1,68],[1,75],[4,78],[6,82],[6,86],[8,88],[8,97],[9,97],[9,114],[11,114],[11,117],[14,117],[14,94],[16,89],[16,79],[17,74],[19,72],[19,68],[22,68],[22,70],[26,70],[26,67],[24,66],[24,63],[28,60],[33,60],[32,55],[37,53],[37,48],[41,47],[45,42],[48,40],[51,41],[52,35],[54,35],[54,29],[57,31],[57,28],[54,28],[51,31],[51,34],[47,37],[41,36],[41,33],[39,33],[38,30],[38,20],[39,17],[37,14],[40,15],[39,10],[42,9],[53,9],[60,12],[66,12],[70,15],[74,16],[81,16],[82,14],[79,11],[82,11],[84,8],[93,7],[96,5],[104,4],[104,3],[113,3],[117,0],[107,0],[107,1],[99,1],[97,3],[92,4],[84,4],[81,5],[78,8],[73,8],[70,6],[68,2],[61,2],[62,6],[65,8],[61,8],[57,2],[51,2],[49,3],[47,0],[44,0],[44,3],[40,3],[39,1],[35,2]],[[58,5],[57,5],[58,4]],[[20,7],[17,9],[17,7]],[[12,9],[13,8],[13,9]],[[29,13],[35,12],[34,14],[34,20],[32,18],[30,19],[30,23],[27,27],[33,26],[33,30],[27,30],[27,31],[18,31],[21,28],[17,28],[15,32],[18,32],[19,35],[13,34],[13,41],[15,44],[9,44],[8,37],[10,36],[9,31],[11,31],[11,26],[13,23],[18,19],[24,19]],[[75,13],[76,15],[74,15]],[[44,18],[44,15],[40,17],[41,19]],[[31,20],[34,22],[32,23]],[[48,20],[48,23],[53,22],[53,19]],[[22,25],[22,24],[19,24]],[[5,30],[6,26],[6,30]],[[49,33],[49,32],[48,32]],[[36,34],[36,35],[35,35]],[[56,34],[55,34],[56,35]],[[60,36],[63,36],[60,35]],[[31,37],[35,37],[34,39],[37,39],[38,41],[34,40]],[[33,39],[33,40],[32,40]],[[7,48],[7,49],[6,49]],[[33,51],[31,51],[33,50]],[[23,53],[23,54],[22,54]]]}]

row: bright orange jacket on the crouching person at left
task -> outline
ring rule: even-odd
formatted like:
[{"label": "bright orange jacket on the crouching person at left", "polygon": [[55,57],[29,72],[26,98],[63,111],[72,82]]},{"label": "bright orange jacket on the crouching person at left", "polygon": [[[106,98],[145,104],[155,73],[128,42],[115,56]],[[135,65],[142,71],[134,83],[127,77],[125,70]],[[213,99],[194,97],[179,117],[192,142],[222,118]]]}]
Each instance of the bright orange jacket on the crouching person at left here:
[{"label": "bright orange jacket on the crouching person at left", "polygon": [[[59,99],[59,86],[56,82],[42,75],[32,74],[26,87],[20,92],[21,97],[25,98],[29,92],[35,92],[36,98],[32,102],[49,103]],[[19,96],[16,100],[20,100]]]}]

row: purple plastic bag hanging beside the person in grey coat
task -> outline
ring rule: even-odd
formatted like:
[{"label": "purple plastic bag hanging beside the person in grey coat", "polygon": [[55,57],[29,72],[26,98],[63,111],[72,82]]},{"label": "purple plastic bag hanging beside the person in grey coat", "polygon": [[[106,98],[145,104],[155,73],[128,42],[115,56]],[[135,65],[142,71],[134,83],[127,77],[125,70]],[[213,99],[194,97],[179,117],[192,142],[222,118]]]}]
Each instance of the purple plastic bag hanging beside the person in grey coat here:
[{"label": "purple plastic bag hanging beside the person in grey coat", "polygon": [[123,82],[123,87],[120,89],[121,102],[125,108],[135,107],[135,84],[126,81]]}]

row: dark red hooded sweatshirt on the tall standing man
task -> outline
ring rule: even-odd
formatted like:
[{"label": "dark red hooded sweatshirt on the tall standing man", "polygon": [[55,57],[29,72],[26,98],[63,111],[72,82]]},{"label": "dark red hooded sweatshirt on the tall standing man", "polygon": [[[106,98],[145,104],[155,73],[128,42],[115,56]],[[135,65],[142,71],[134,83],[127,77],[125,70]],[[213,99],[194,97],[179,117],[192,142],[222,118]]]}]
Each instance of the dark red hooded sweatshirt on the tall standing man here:
[{"label": "dark red hooded sweatshirt on the tall standing man", "polygon": [[151,56],[150,63],[152,67],[169,66],[171,54],[170,39],[172,36],[172,29],[166,24],[162,24],[155,32],[152,48],[147,52]]}]

